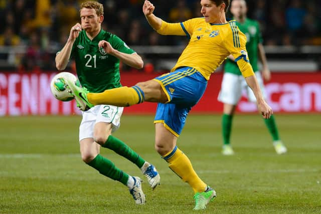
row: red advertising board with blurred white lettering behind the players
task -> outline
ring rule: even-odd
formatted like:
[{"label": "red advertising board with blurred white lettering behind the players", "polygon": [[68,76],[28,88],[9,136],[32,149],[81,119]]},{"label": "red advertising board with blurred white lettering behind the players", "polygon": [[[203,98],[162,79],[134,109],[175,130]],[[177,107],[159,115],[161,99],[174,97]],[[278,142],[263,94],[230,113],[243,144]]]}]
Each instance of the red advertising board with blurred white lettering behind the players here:
[{"label": "red advertising board with blurred white lettering behind the players", "polygon": [[[80,114],[75,102],[56,100],[50,92],[55,73],[0,73],[0,115]],[[121,73],[121,83],[132,86],[152,79],[157,74]],[[218,113],[217,101],[222,73],[212,75],[207,90],[191,113]],[[273,73],[265,85],[267,102],[274,112],[321,112],[321,73]],[[154,113],[155,103],[143,103],[125,108],[124,113]],[[239,102],[239,112],[255,112],[256,106],[245,96]]]}]

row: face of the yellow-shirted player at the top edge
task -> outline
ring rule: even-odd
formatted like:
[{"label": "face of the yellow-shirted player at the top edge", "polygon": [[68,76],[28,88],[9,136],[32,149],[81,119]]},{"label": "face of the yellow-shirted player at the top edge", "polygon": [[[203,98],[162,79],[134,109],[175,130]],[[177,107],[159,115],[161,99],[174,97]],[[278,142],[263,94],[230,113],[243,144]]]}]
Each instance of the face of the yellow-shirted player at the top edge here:
[{"label": "face of the yellow-shirted player at the top edge", "polygon": [[[220,13],[222,12],[222,5],[216,6],[210,0],[201,0],[201,14],[205,18],[207,23],[215,23],[220,19]],[[223,10],[224,12],[224,10]]]}]

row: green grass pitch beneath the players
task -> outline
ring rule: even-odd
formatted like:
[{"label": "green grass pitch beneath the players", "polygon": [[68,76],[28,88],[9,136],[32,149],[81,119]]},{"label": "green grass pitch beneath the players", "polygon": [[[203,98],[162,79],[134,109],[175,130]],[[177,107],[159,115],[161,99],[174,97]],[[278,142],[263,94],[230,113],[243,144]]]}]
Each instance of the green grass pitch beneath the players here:
[{"label": "green grass pitch beneath the players", "polygon": [[[154,151],[153,116],[122,117],[115,136],[156,165],[161,185],[146,182],[145,205],[127,187],[84,164],[78,116],[0,117],[0,213],[195,213],[193,192]],[[237,115],[221,151],[221,116],[190,115],[178,146],[218,197],[202,213],[321,213],[321,116],[277,115],[288,147],[277,155],[258,115]],[[102,149],[131,175],[135,165]]]}]

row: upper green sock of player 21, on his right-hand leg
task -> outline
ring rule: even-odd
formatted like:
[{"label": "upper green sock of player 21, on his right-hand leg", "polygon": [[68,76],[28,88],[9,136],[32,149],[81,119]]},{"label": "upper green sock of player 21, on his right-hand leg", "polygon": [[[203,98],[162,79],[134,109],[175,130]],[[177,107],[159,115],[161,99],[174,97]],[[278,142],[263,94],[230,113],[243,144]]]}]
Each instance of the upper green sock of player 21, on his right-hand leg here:
[{"label": "upper green sock of player 21, on his right-hand leg", "polygon": [[124,142],[114,136],[109,135],[107,141],[104,145],[102,145],[102,147],[109,148],[117,154],[125,157],[126,159],[136,164],[138,168],[141,168],[145,163],[145,160],[142,159],[134,150],[132,150]]}]

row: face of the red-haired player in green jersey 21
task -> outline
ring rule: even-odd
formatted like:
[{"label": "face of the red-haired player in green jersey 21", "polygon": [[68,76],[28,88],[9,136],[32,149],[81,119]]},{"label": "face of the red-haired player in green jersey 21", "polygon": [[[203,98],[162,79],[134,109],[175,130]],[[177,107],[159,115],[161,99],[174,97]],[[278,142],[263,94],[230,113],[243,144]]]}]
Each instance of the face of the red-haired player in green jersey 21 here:
[{"label": "face of the red-haired player in green jersey 21", "polygon": [[97,16],[94,9],[83,8],[80,11],[81,28],[86,32],[95,32],[100,30],[103,16]]}]

